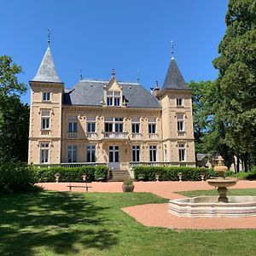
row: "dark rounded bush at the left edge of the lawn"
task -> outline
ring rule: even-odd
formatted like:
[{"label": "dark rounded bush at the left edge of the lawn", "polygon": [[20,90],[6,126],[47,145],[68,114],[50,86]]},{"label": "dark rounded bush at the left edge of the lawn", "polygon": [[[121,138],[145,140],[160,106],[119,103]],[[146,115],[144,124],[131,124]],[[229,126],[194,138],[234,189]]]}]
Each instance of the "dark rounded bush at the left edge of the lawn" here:
[{"label": "dark rounded bush at the left edge of the lawn", "polygon": [[36,183],[32,166],[21,162],[4,162],[0,164],[0,191],[28,191]]}]

